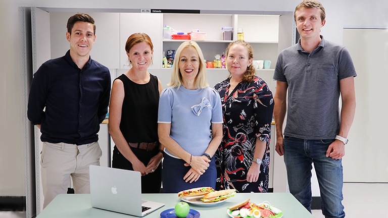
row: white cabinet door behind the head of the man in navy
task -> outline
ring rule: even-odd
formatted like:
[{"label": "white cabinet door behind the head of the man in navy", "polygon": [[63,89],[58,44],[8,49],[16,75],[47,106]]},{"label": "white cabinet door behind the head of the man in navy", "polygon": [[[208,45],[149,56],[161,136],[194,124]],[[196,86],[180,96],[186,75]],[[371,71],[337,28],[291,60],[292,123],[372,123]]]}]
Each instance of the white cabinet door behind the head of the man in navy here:
[{"label": "white cabinet door behind the head of the man in navy", "polygon": [[[66,39],[66,24],[69,17],[76,12],[51,12],[51,57],[58,58],[65,55],[70,44]],[[119,37],[120,14],[119,13],[88,13],[95,22],[96,39],[90,51],[90,57],[109,69],[120,67]]]}]

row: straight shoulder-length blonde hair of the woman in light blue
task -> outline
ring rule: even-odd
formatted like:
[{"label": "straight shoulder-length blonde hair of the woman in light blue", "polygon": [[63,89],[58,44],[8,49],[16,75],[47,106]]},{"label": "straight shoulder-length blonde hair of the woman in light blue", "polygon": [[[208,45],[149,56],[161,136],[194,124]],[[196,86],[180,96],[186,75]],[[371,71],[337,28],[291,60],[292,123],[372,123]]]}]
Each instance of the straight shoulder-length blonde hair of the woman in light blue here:
[{"label": "straight shoulder-length blonde hair of the woman in light blue", "polygon": [[172,71],[171,71],[171,81],[167,85],[171,86],[173,88],[178,88],[183,84],[182,75],[180,74],[180,70],[179,70],[179,62],[180,62],[180,53],[186,47],[193,47],[197,51],[198,57],[200,59],[199,60],[200,67],[198,69],[198,74],[196,77],[197,88],[208,87],[209,83],[208,83],[208,80],[206,78],[205,58],[204,58],[204,55],[202,53],[200,46],[195,41],[184,41],[184,42],[182,42],[182,44],[179,45],[178,49],[176,49],[174,64],[172,66]]}]

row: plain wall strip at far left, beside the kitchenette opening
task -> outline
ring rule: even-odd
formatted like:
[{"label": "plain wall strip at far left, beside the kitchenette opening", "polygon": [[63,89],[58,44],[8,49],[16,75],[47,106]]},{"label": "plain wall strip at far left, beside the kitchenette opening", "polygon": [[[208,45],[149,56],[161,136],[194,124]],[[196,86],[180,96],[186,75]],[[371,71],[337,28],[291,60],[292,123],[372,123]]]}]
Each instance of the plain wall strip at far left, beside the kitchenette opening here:
[{"label": "plain wall strip at far left, beside the kitchenette opening", "polygon": [[[14,14],[11,14],[13,10]],[[17,22],[17,8],[0,3],[1,73],[0,73],[0,196],[25,195],[25,128],[23,72],[17,60],[20,44],[14,40]],[[4,17],[3,17],[4,16]],[[19,56],[19,57],[18,57]]]}]

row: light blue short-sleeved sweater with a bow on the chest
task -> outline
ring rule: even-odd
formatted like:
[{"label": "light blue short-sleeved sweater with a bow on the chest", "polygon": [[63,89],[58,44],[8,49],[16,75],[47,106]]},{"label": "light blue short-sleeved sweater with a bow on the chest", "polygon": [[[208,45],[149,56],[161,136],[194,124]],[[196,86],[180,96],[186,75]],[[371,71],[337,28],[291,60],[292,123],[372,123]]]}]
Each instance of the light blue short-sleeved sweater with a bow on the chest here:
[{"label": "light blue short-sleeved sweater with a bow on the chest", "polygon": [[211,124],[222,123],[220,96],[210,87],[166,88],[160,96],[158,123],[171,123],[170,137],[188,153],[202,155],[212,140]]}]

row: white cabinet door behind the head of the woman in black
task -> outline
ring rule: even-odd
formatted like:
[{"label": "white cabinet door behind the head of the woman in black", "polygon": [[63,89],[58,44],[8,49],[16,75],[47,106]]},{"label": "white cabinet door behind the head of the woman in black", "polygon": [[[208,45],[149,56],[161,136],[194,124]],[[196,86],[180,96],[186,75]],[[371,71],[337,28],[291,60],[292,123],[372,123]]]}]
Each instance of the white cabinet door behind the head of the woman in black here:
[{"label": "white cabinet door behind the head of the woman in black", "polygon": [[120,68],[128,69],[129,62],[125,43],[133,33],[147,33],[154,45],[153,65],[150,69],[162,68],[162,14],[120,13]]}]

